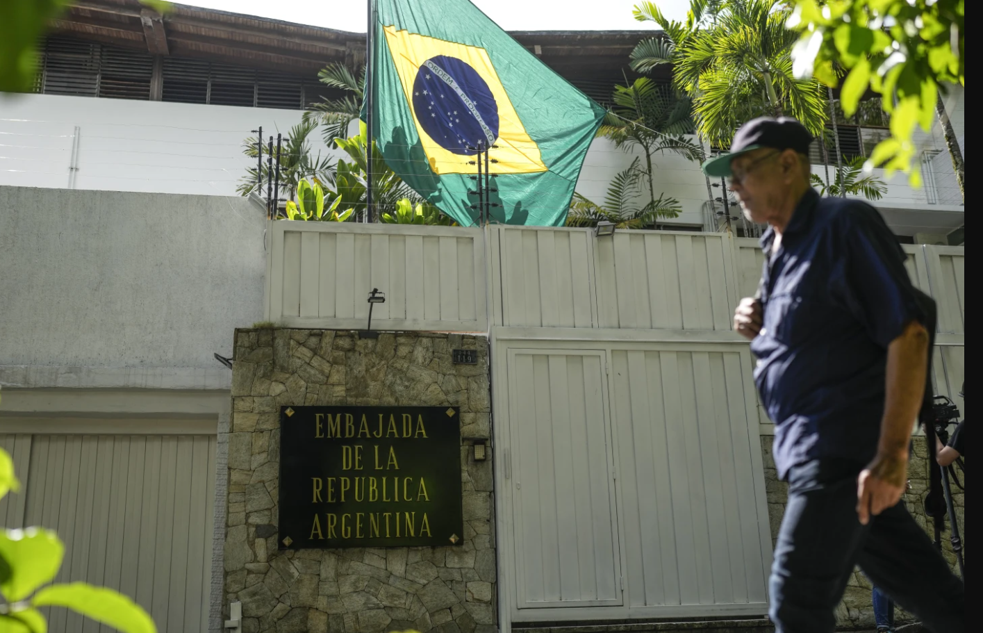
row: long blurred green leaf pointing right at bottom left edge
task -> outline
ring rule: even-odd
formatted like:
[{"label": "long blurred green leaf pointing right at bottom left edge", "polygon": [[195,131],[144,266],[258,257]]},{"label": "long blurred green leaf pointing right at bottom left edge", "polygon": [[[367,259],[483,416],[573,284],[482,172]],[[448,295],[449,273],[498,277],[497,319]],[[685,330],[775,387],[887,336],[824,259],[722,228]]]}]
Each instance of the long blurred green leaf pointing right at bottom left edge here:
[{"label": "long blurred green leaf pointing right at bottom left edge", "polygon": [[111,589],[87,583],[51,585],[37,592],[34,606],[66,606],[122,633],[156,633],[149,614],[140,604]]}]

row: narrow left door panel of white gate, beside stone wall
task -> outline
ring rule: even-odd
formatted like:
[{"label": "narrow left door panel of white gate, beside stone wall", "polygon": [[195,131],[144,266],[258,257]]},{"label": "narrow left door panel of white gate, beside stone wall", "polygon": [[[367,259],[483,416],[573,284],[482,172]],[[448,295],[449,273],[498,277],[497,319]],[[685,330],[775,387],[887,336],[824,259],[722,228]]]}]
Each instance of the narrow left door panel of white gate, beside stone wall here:
[{"label": "narrow left door panel of white gate, beside stone wall", "polygon": [[516,606],[621,604],[602,352],[509,350]]}]

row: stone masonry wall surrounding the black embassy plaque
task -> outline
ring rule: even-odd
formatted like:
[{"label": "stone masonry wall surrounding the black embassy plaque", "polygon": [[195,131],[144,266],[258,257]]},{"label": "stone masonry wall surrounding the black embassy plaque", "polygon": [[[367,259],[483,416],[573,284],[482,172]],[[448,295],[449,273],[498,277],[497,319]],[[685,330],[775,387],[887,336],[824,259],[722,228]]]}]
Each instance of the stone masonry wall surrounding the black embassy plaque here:
[{"label": "stone masonry wall surrounding the black embassy plaque", "polygon": [[[454,348],[478,365],[453,365]],[[461,446],[461,546],[281,551],[275,527],[281,405],[458,406],[461,436],[487,438],[486,338],[239,329],[232,400],[223,613],[242,602],[244,633],[497,630],[491,454]]]}]

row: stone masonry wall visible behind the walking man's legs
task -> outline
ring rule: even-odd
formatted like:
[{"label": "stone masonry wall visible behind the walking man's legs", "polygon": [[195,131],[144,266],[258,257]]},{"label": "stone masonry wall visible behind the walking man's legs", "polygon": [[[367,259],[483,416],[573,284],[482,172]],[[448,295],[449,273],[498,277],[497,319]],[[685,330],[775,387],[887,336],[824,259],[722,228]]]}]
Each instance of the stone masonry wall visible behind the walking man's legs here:
[{"label": "stone masonry wall visible behind the walking man's legs", "polygon": [[[785,501],[788,498],[788,486],[784,482],[779,481],[778,470],[775,466],[775,460],[772,457],[772,441],[774,439],[775,437],[772,435],[762,435],[761,437],[761,451],[765,457],[765,487],[768,491],[768,518],[771,522],[773,547],[779,537],[781,517],[784,514]],[[925,496],[928,494],[928,469],[930,463],[934,464],[935,462],[934,460],[932,462],[929,461],[929,452],[924,436],[914,437],[913,443],[914,453],[908,464],[908,481],[910,482],[911,488],[908,489],[902,498],[905,506],[908,508],[908,512],[914,516],[918,525],[932,538],[932,521],[925,515]],[[961,474],[959,481],[962,481]],[[961,490],[955,488],[954,485],[952,488],[955,513],[959,523],[959,534],[962,537],[964,547],[966,534],[964,520],[965,495]],[[946,525],[948,528],[948,518],[946,519]],[[958,573],[953,545],[949,540],[949,536],[950,534],[947,529],[942,535],[943,554],[949,561],[953,571]],[[963,549],[964,553],[965,549]],[[854,569],[853,574],[846,584],[846,592],[843,594],[843,600],[837,608],[838,626],[869,626],[873,628],[874,607],[871,604],[870,591],[870,581],[860,573],[859,569]],[[896,607],[895,617],[897,622],[914,619],[912,615],[905,612],[899,606]]]}]

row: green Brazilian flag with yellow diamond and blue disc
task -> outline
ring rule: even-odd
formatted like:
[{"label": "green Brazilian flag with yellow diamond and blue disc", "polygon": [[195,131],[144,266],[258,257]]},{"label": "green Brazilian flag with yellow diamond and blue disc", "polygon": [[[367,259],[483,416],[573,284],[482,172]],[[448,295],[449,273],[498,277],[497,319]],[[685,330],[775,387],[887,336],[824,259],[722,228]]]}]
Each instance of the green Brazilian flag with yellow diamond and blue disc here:
[{"label": "green Brazilian flag with yellow diamond and blue disc", "polygon": [[467,0],[376,0],[373,132],[386,164],[462,226],[561,226],[604,109]]}]

